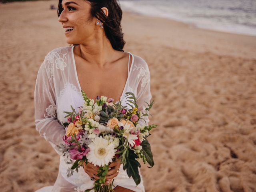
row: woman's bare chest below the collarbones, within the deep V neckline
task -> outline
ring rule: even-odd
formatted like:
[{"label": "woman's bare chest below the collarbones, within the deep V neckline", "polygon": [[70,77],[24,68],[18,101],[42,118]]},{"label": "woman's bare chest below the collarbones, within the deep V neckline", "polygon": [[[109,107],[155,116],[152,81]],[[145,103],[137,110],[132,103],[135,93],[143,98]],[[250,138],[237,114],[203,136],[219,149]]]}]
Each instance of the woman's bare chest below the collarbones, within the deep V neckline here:
[{"label": "woman's bare chest below the collarbones, within the deep V neckline", "polygon": [[76,63],[78,82],[89,98],[106,96],[120,100],[128,82],[128,64],[113,64],[102,69]]}]

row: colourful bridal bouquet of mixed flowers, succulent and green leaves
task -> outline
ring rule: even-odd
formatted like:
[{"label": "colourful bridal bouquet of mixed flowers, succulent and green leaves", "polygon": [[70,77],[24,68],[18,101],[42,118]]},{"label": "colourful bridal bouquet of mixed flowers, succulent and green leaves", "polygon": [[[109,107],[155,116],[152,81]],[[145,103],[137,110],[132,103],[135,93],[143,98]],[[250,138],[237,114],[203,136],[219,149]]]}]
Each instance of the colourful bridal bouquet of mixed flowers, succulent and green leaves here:
[{"label": "colourful bridal bouquet of mixed flowers, succulent and green leaves", "polygon": [[[63,136],[64,144],[57,146],[62,152],[65,161],[72,164],[67,171],[70,177],[74,170],[83,163],[88,162],[94,166],[100,166],[97,176],[90,190],[114,192],[113,182],[108,185],[105,183],[108,166],[114,160],[120,160],[129,177],[132,176],[136,185],[140,183],[140,159],[144,164],[148,162],[149,168],[154,166],[154,160],[147,137],[149,131],[157,125],[146,125],[143,117],[150,115],[154,101],[148,104],[145,102],[146,109],[138,111],[137,99],[132,92],[126,92],[127,106],[122,106],[122,102],[114,103],[112,98],[97,96],[94,102],[82,91],[84,98],[83,106],[79,107],[78,112],[71,106],[71,112],[67,114],[67,122],[63,123],[66,134]],[[139,124],[143,120],[145,124]],[[114,180],[113,180],[114,181]]]}]

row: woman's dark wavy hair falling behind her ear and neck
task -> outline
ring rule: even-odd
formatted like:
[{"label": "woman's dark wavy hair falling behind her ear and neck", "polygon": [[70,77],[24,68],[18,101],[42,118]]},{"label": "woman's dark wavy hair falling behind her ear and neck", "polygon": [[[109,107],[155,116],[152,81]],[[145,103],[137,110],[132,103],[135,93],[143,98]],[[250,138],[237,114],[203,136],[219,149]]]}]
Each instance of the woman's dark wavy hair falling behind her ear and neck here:
[{"label": "woman's dark wavy hair falling behind her ear and neck", "polygon": [[[91,5],[91,21],[94,17],[100,20],[104,26],[106,37],[110,41],[115,50],[124,52],[124,33],[122,33],[121,20],[122,9],[118,0],[86,0]],[[61,6],[62,0],[58,4],[58,16],[60,16],[63,8]],[[108,8],[108,17],[102,11],[102,7]]]}]

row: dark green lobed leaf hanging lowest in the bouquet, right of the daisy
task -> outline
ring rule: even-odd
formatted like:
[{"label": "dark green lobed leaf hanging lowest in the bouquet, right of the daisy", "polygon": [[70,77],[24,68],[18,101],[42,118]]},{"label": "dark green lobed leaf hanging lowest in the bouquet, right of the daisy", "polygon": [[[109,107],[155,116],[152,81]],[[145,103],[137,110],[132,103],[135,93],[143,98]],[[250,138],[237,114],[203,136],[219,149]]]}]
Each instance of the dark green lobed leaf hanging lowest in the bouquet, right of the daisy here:
[{"label": "dark green lobed leaf hanging lowest in the bouquet, right of the daisy", "polygon": [[128,177],[133,178],[136,185],[140,184],[140,174],[138,167],[140,167],[140,163],[136,160],[139,158],[135,153],[134,150],[128,149],[128,157],[126,157],[126,164],[123,165],[124,170],[126,170]]}]

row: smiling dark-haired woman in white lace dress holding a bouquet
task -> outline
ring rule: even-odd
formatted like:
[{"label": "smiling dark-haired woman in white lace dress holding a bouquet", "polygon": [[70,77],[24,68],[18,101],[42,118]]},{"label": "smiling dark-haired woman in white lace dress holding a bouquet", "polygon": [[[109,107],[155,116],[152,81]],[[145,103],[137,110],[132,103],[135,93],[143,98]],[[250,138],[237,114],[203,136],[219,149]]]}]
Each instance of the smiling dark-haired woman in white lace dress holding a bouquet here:
[{"label": "smiling dark-haired woman in white lace dress holding a bouquet", "polygon": [[[125,92],[133,92],[139,110],[145,110],[144,101],[150,103],[152,97],[147,63],[123,50],[122,10],[117,0],[59,0],[58,16],[66,42],[73,46],[56,48],[45,56],[34,92],[36,130],[55,150],[64,143],[63,111],[70,111],[70,105],[78,110],[83,104],[80,90],[89,98],[104,95],[121,100],[123,106]],[[98,167],[89,163],[67,177],[70,164],[56,152],[60,155],[56,182],[36,192],[83,192],[93,187]],[[115,192],[145,191],[143,180],[136,186],[120,162],[110,164],[105,184],[113,179]]]}]

